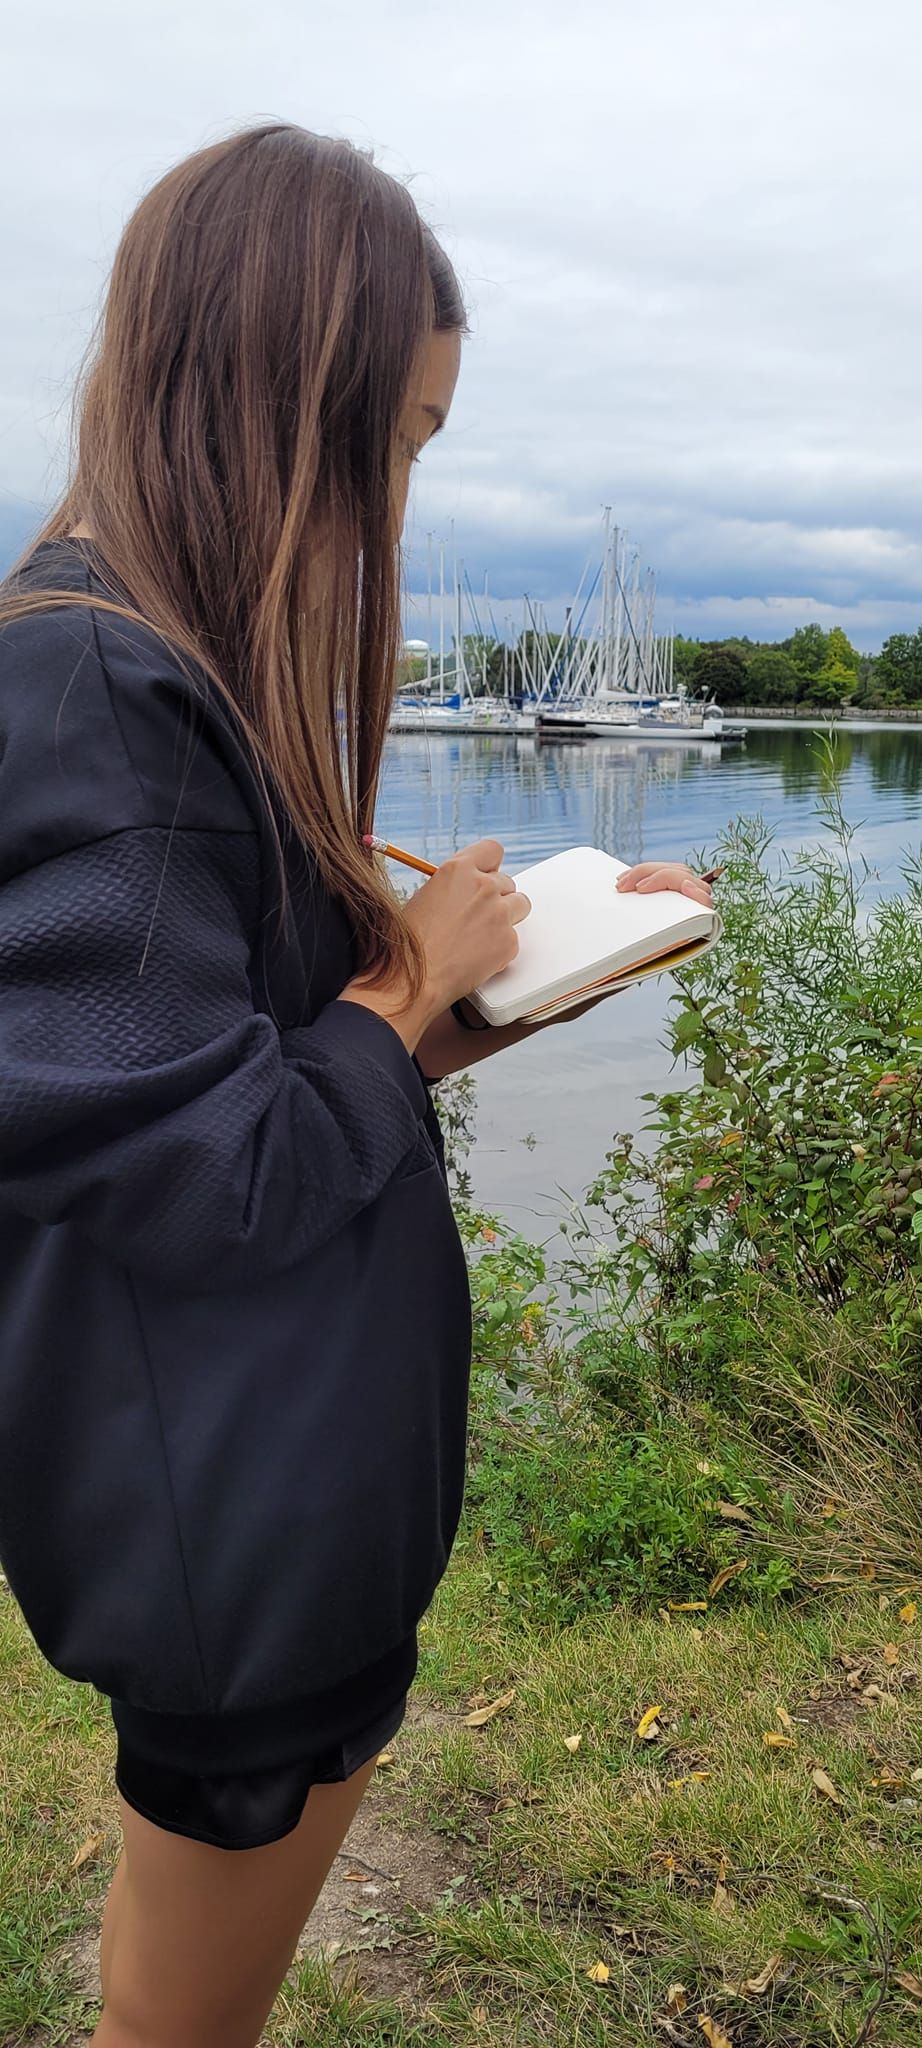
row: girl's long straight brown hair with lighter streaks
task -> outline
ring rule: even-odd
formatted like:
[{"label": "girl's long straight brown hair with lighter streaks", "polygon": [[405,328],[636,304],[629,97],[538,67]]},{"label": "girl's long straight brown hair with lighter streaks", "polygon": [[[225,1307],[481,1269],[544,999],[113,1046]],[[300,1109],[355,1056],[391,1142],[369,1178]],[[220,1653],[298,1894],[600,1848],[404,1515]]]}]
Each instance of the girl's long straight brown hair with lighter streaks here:
[{"label": "girl's long straight brown hair with lighter streaks", "polygon": [[[111,606],[229,700],[371,973],[418,973],[361,848],[400,651],[397,422],[426,338],[463,326],[449,258],[361,150],[289,125],[201,150],[125,227],[39,535],[86,528]],[[80,600],[12,578],[0,621]]]}]

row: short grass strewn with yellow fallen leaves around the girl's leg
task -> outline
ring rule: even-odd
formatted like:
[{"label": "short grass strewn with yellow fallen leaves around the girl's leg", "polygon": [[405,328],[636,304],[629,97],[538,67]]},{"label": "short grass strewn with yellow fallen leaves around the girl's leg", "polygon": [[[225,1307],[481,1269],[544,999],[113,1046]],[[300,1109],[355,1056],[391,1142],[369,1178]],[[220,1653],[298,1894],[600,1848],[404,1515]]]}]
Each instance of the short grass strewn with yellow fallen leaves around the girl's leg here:
[{"label": "short grass strewn with yellow fallen leaves around the girl's leg", "polygon": [[[801,1612],[727,1589],[707,1616],[537,1630],[494,1608],[492,1583],[467,1542],[422,1634],[438,1712],[404,1731],[387,1774],[408,1827],[465,1845],[479,1903],[447,1898],[410,1929],[412,2007],[305,1964],[275,2048],[701,2044],[701,2019],[731,2048],[922,2040],[922,1999],[899,1985],[922,1976],[922,1618],[875,1589]],[[471,1698],[510,1688],[488,1726],[463,1726]],[[8,1595],[0,1702],[8,2048],[92,2025],[68,1939],[98,1919],[117,1841],[104,1708],[47,1671]],[[662,1733],[641,1743],[649,1706]],[[791,1749],[764,1743],[779,1706]]]}]

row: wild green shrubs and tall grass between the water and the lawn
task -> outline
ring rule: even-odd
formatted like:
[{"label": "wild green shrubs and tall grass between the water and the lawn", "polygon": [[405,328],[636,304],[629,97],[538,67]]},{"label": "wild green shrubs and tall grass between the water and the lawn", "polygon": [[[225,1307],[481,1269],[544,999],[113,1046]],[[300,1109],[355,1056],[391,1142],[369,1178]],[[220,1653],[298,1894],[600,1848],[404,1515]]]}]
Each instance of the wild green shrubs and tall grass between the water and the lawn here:
[{"label": "wild green shrubs and tall grass between the water and the lawn", "polygon": [[875,901],[824,766],[818,846],[779,858],[750,823],[719,848],[725,936],[676,977],[684,1073],[615,1139],[563,1262],[463,1214],[469,1513],[529,1612],[707,1597],[727,1501],[729,1597],[830,1556],[922,1571],[922,864]]}]

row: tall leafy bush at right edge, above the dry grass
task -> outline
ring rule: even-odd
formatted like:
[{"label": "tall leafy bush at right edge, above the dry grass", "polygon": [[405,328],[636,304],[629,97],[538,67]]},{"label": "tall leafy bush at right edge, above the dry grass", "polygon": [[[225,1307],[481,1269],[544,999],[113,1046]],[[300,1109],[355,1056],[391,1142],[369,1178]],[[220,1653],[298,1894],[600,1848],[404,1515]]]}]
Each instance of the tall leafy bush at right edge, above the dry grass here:
[{"label": "tall leafy bush at right edge, above the dry grass", "polygon": [[615,1143],[586,1198],[604,1229],[584,1210],[574,1243],[660,1350],[707,1352],[703,1305],[770,1274],[834,1309],[875,1292],[918,1370],[922,864],[867,905],[834,780],[824,821],[828,844],[774,870],[760,825],[729,834],[725,938],[678,977],[670,1026],[699,1081],[647,1098],[654,1151]]}]

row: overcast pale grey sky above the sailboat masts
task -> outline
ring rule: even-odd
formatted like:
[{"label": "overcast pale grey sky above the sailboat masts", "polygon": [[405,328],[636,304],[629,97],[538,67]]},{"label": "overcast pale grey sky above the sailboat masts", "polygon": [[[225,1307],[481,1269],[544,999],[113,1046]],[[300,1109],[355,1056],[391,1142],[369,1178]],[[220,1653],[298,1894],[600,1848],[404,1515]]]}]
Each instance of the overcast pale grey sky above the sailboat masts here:
[{"label": "overcast pale grey sky above the sailboat masts", "polygon": [[559,616],[611,504],[664,625],[914,629],[920,23],[918,0],[4,8],[0,557],[59,485],[135,199],[283,117],[412,176],[467,289],[416,586],[453,520],[500,623],[522,590]]}]

